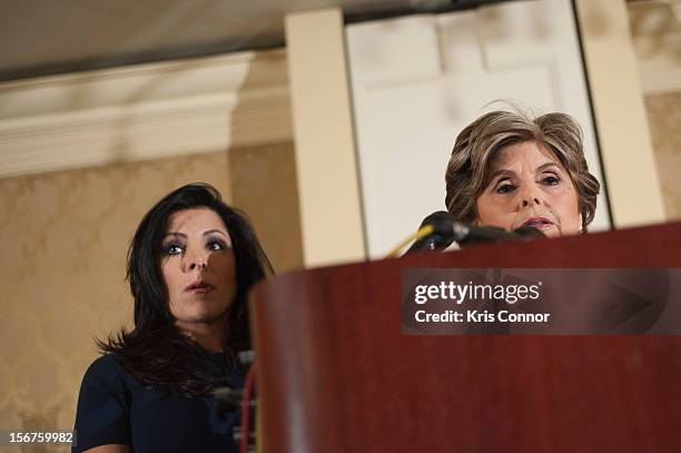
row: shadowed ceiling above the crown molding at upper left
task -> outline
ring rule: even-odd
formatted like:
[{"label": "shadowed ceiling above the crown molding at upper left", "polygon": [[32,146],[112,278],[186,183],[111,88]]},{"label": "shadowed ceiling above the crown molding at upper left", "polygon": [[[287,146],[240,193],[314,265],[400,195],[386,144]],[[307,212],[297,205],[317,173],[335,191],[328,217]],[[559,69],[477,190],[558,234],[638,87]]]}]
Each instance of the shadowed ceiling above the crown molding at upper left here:
[{"label": "shadowed ceiling above the crown molding at upper left", "polygon": [[284,14],[292,11],[339,7],[357,20],[485,2],[0,0],[0,80],[279,47]]}]

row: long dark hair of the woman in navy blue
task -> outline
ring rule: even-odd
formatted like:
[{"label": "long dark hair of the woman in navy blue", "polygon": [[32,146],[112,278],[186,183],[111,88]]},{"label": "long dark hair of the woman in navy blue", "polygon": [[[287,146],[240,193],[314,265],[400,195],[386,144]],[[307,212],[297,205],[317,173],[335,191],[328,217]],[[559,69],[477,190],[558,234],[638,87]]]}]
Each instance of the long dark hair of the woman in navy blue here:
[{"label": "long dark hair of the woman in navy blue", "polygon": [[211,390],[201,366],[205,349],[175,326],[159,260],[168,219],[179,210],[208,208],[225,223],[236,262],[237,289],[229,307],[225,353],[234,360],[250,348],[247,294],[253,285],[273,273],[272,265],[243,214],[227,206],[208,184],[190,184],[168,194],[142,218],[128,249],[127,279],[135,299],[135,327],[121,329],[106,342],[105,353],[116,353],[128,372],[146,384],[168,386],[197,395]]}]

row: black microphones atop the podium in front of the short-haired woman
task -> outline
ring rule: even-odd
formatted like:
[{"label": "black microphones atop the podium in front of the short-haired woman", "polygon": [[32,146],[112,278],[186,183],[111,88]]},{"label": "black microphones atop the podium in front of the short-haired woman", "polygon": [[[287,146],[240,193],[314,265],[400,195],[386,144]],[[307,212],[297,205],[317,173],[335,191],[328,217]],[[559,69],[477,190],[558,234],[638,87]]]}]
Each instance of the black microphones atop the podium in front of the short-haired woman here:
[{"label": "black microphones atop the podium in front of the short-haired woman", "polygon": [[461,221],[456,221],[454,217],[445,210],[438,210],[424,218],[418,229],[426,225],[433,226],[433,233],[416,240],[406,250],[406,254],[423,250],[444,250],[453,242],[463,246],[478,243],[532,240],[539,237],[546,237],[542,232],[531,226],[506,232],[499,227],[465,225]]}]

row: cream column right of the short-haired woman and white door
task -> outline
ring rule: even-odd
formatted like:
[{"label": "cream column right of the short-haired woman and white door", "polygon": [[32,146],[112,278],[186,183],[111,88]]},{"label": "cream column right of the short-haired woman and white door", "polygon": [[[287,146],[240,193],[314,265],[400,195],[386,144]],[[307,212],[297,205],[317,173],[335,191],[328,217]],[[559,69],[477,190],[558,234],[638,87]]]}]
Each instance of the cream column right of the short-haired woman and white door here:
[{"label": "cream column right of the short-haired woman and white door", "polygon": [[624,0],[576,0],[576,9],[614,225],[664,221]]}]

